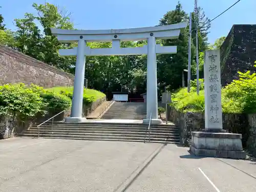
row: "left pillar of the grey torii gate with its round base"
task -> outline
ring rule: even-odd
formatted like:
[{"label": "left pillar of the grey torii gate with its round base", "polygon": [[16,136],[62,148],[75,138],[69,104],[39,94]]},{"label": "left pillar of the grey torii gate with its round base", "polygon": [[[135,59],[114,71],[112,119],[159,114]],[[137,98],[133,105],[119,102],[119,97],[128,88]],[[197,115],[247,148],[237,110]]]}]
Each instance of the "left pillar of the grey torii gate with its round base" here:
[{"label": "left pillar of the grey torii gate with its round base", "polygon": [[82,117],[82,103],[83,103],[83,86],[84,86],[84,71],[86,56],[84,51],[86,49],[86,41],[82,39],[78,40],[77,55],[76,55],[76,68],[74,79],[74,91],[71,106],[71,116],[66,117],[66,122],[83,122],[86,121],[85,117]]}]

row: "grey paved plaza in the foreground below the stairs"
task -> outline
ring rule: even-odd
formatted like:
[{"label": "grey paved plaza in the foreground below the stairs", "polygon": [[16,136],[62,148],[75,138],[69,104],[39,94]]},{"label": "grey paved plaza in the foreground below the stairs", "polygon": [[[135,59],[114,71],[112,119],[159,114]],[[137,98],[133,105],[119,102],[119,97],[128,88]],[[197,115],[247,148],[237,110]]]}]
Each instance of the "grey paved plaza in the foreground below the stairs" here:
[{"label": "grey paved plaza in the foreground below the stairs", "polygon": [[175,144],[0,141],[0,191],[256,191],[256,162],[201,158]]}]

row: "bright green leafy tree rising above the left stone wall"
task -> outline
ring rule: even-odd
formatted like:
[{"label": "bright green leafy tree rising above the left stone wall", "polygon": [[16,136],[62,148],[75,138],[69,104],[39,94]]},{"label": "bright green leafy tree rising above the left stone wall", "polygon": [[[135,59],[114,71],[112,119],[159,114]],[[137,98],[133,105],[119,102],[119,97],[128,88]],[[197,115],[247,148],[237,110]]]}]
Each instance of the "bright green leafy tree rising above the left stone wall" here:
[{"label": "bright green leafy tree rising above the left stone wall", "polygon": [[[71,72],[72,66],[75,65],[75,57],[61,57],[58,54],[59,49],[68,48],[70,45],[60,44],[50,30],[73,29],[70,14],[62,14],[62,10],[49,3],[34,3],[32,7],[37,11],[37,15],[26,13],[25,18],[15,19],[17,49],[49,65]],[[37,26],[36,22],[41,24],[43,31],[40,31],[40,26]]]}]

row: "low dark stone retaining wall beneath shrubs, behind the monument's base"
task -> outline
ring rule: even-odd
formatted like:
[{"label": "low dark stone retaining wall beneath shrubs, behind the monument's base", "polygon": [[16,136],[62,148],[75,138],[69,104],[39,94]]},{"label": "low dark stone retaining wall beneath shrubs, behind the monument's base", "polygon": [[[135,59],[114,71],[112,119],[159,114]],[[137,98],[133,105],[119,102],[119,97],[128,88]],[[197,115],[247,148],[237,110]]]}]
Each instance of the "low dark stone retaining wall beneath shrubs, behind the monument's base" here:
[{"label": "low dark stone retaining wall beneath shrubs, behind the monument's base", "polygon": [[[168,120],[180,128],[180,142],[185,146],[191,144],[191,132],[205,128],[204,114],[182,113],[169,107]],[[256,114],[222,114],[223,129],[228,133],[242,134],[242,144],[256,155]]]}]

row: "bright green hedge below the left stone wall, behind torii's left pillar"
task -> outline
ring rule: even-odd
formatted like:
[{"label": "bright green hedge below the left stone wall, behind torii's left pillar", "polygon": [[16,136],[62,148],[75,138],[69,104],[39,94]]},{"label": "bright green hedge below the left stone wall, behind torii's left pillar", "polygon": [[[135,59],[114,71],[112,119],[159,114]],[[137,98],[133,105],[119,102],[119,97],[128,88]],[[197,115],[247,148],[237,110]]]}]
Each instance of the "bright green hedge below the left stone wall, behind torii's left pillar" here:
[{"label": "bright green hedge below the left stone wall, behind torii's left pillar", "polygon": [[[0,86],[0,116],[18,116],[21,119],[45,115],[49,110],[70,109],[73,87],[43,89],[24,83]],[[84,103],[91,103],[105,95],[96,90],[84,89]]]}]

